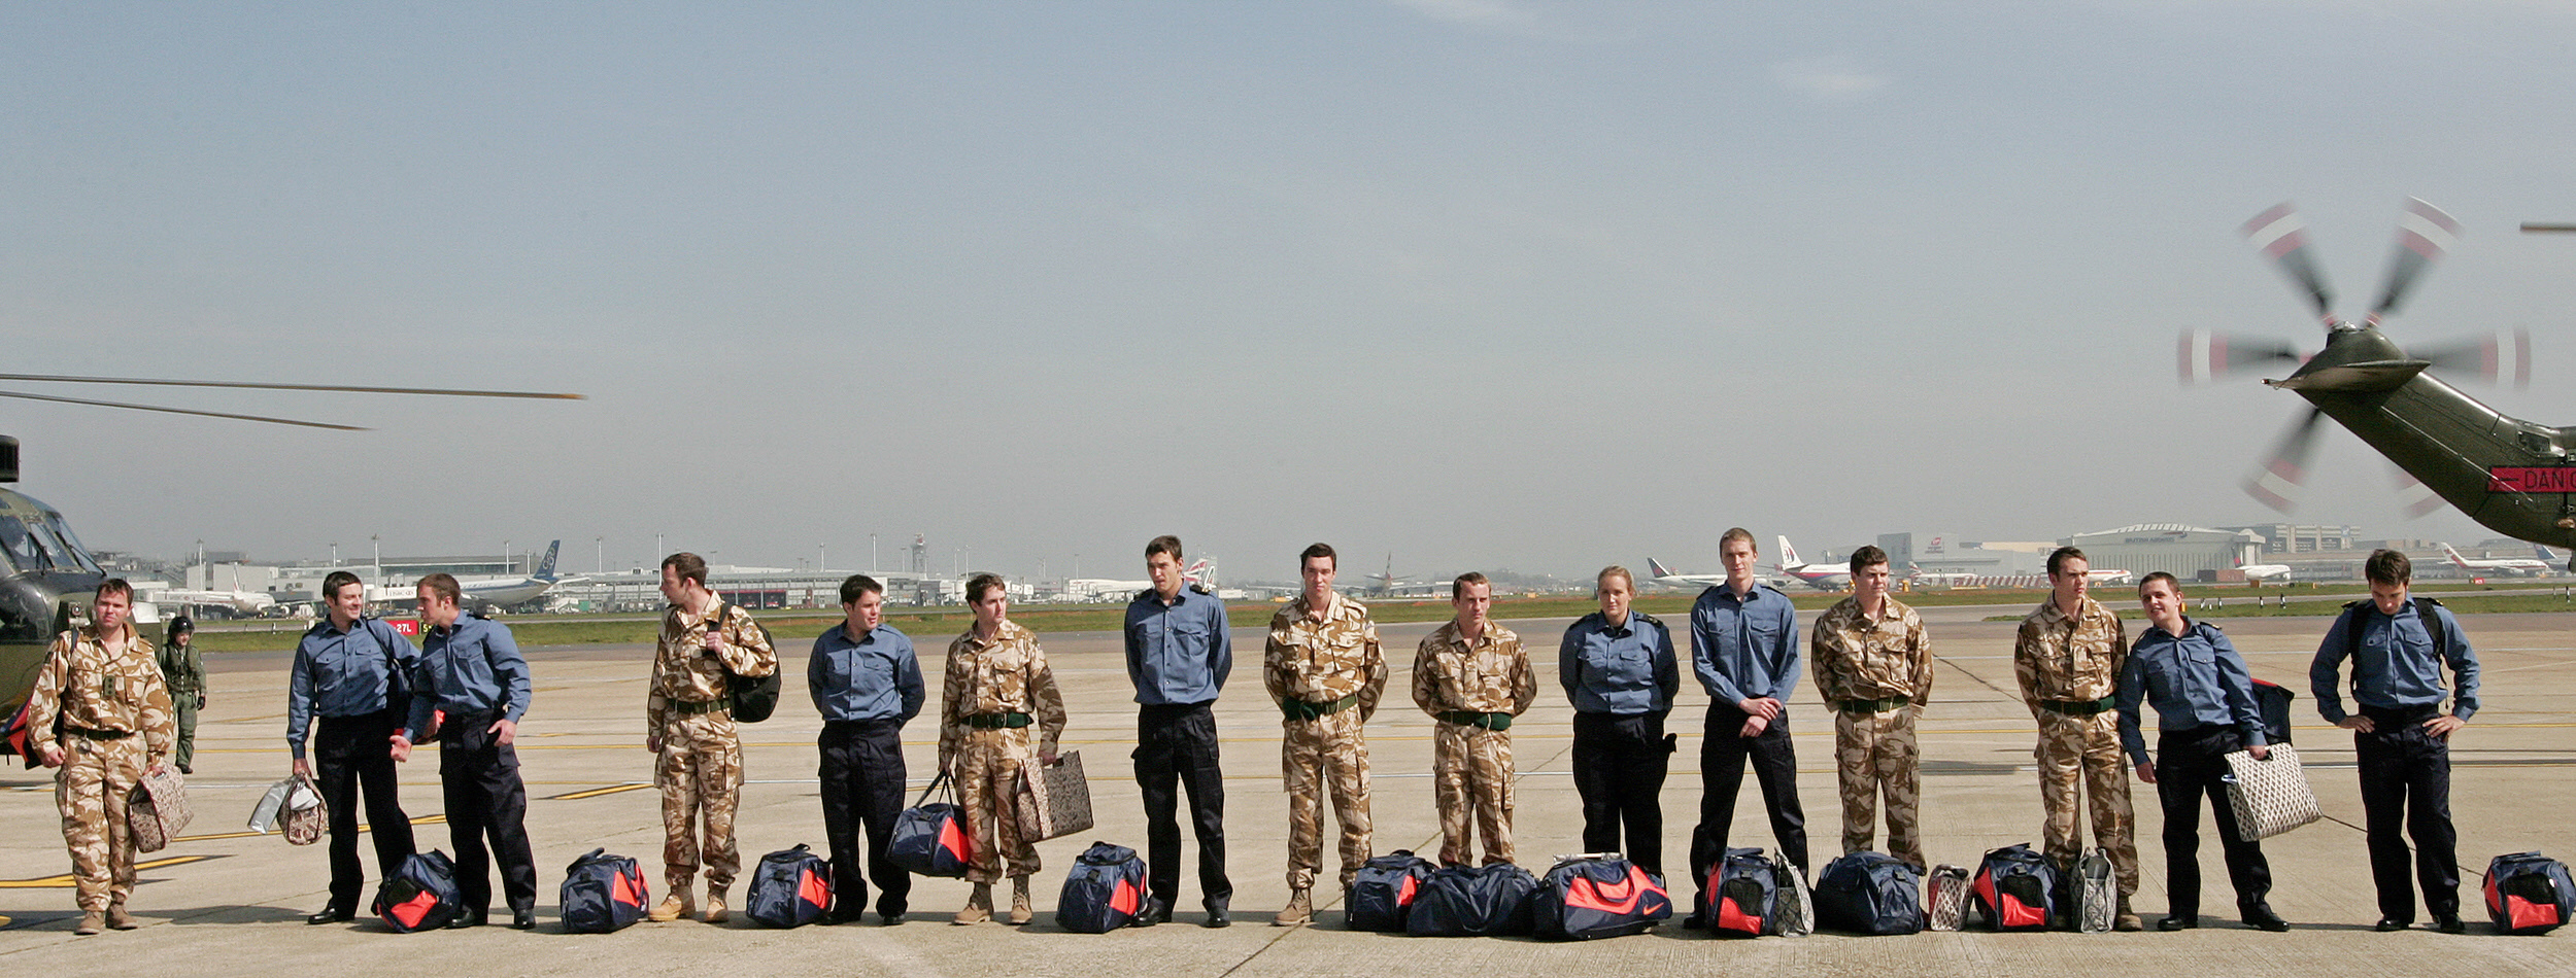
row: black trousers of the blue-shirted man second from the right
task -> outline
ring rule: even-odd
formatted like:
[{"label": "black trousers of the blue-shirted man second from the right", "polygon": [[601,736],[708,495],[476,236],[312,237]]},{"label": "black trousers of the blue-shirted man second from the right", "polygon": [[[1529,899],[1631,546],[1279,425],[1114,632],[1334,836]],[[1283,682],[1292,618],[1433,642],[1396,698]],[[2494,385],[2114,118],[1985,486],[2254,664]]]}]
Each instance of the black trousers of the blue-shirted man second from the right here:
[{"label": "black trousers of the blue-shirted man second from the right", "polygon": [[2236,829],[2236,808],[2228,806],[2231,752],[2244,749],[2244,736],[2231,726],[2195,726],[2190,731],[2164,731],[2156,736],[2156,800],[2164,803],[2164,890],[2166,914],[2200,916],[2200,800],[2210,800],[2218,816],[2218,847],[2226,852],[2228,883],[2236,885],[2236,909],[2249,909],[2272,893],[2272,862],[2262,844],[2244,839]]}]

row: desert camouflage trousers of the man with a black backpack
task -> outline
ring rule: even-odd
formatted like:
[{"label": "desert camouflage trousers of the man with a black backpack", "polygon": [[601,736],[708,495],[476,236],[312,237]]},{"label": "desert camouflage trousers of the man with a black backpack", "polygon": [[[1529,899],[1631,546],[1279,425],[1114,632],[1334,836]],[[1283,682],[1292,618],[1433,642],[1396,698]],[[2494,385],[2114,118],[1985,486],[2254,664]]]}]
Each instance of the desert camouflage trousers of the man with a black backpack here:
[{"label": "desert camouflage trousers of the man with a black backpack", "polygon": [[[742,872],[734,806],[742,800],[742,739],[732,713],[677,713],[662,721],[662,880],[688,893],[706,857],[706,890],[721,893]],[[703,826],[703,834],[701,834]]]}]

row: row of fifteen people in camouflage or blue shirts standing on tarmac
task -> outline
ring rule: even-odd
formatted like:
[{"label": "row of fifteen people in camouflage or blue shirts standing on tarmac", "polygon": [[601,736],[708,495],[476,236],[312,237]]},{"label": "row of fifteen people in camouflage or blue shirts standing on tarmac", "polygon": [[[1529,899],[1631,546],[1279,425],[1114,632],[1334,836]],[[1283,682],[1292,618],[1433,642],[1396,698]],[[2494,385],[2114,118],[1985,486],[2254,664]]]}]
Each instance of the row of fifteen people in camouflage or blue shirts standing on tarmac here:
[{"label": "row of fifteen people in camouflage or blue shirts standing on tarmac", "polygon": [[[1700,752],[1703,811],[1692,829],[1690,872],[1705,878],[1723,857],[1734,800],[1752,767],[1772,831],[1788,862],[1806,872],[1806,826],[1795,795],[1795,757],[1783,700],[1803,669],[1798,623],[1785,595],[1754,584],[1752,533],[1721,538],[1728,582],[1692,607],[1692,672],[1710,692]],[[1368,752],[1363,726],[1386,685],[1386,661],[1368,610],[1332,589],[1337,556],[1316,543],[1301,553],[1303,589],[1270,623],[1265,687],[1283,713],[1283,777],[1288,788],[1291,901],[1275,924],[1303,924],[1321,872],[1321,803],[1340,821],[1340,883],[1370,857]],[[2071,865],[2079,852],[2079,798],[2089,800],[2097,842],[2110,849],[2120,885],[2120,927],[2138,929],[2128,759],[2156,782],[2166,808],[2172,909],[2164,929],[2197,927],[2197,800],[2213,798],[2231,880],[2246,924],[2287,927],[2264,903],[2269,888],[2259,847],[2239,839],[2223,803],[2215,762],[2233,749],[2264,749],[2264,728],[2244,659],[2208,623],[2182,615],[2179,582],[2151,574],[2141,600],[2151,625],[2133,649],[2120,620],[2089,595],[2081,551],[2050,553],[2050,602],[2025,618],[2014,672],[2040,723],[2035,757],[2045,811],[2045,852]],[[1139,703],[1136,777],[1146,803],[1149,898],[1141,919],[1167,921],[1180,890],[1180,795],[1188,793],[1198,836],[1198,878],[1208,927],[1226,927],[1231,883],[1224,852],[1224,782],[1213,700],[1231,674],[1224,605],[1182,582],[1177,538],[1146,546],[1154,587],[1126,615],[1126,667]],[[1855,595],[1816,620],[1811,659],[1816,685],[1837,718],[1837,767],[1844,852],[1870,847],[1875,808],[1886,800],[1888,849],[1922,867],[1917,818],[1919,752],[1914,718],[1929,700],[1932,659],[1922,620],[1888,597],[1886,556],[1862,548],[1852,561]],[[2429,600],[2409,597],[2403,553],[2380,551],[2367,564],[2372,602],[2336,618],[2311,667],[2318,710],[2354,731],[2370,865],[2380,890],[2380,929],[2411,924],[2416,883],[2439,929],[2460,929],[2458,860],[2447,813],[2447,736],[2476,710],[2476,656],[2458,620]],[[345,577],[345,579],[343,579]],[[363,883],[355,852],[358,795],[376,826],[384,872],[410,854],[410,818],[394,798],[394,762],[412,744],[440,741],[440,780],[459,849],[466,914],[484,921],[487,862],[497,857],[513,927],[533,927],[536,870],[526,839],[526,788],[513,749],[528,710],[526,659],[507,628],[459,615],[456,582],[433,574],[417,587],[425,649],[363,618],[355,577],[325,582],[330,618],[296,651],[289,682],[289,746],[296,772],[314,741],[319,785],[332,806],[330,903],[312,921],[343,921]],[[729,674],[760,677],[778,667],[765,631],[706,587],[706,564],[675,553],[662,564],[670,610],[647,692],[647,749],[665,813],[665,883],[670,898],[654,919],[703,914],[726,919],[726,888],[739,872],[732,816],[742,785],[742,744],[732,721]],[[1561,643],[1558,679],[1577,708],[1574,780],[1584,803],[1584,847],[1623,849],[1662,872],[1659,793],[1674,736],[1664,718],[1680,692],[1669,628],[1628,607],[1625,569],[1597,577],[1602,610],[1577,620]],[[31,752],[57,775],[57,803],[72,849],[80,932],[131,927],[131,839],[124,798],[173,746],[170,692],[152,649],[126,625],[131,589],[108,582],[93,623],[64,633],[39,674],[31,703]],[[940,715],[940,772],[961,788],[969,811],[974,896],[956,916],[992,916],[989,888],[1010,875],[1012,921],[1028,921],[1028,878],[1036,849],[1018,839],[1012,782],[1020,764],[1054,759],[1064,700],[1036,636],[1007,620],[997,577],[969,582],[976,623],[948,649]],[[1481,836],[1484,862],[1510,862],[1512,754],[1510,723],[1530,708],[1535,677],[1520,638],[1492,623],[1492,587],[1481,574],[1453,584],[1458,615],[1427,636],[1414,659],[1414,700],[1435,726],[1435,798],[1443,862],[1468,862]],[[814,641],[809,692],[824,715],[819,746],[824,831],[832,849],[835,921],[858,919],[868,878],[886,924],[907,914],[909,878],[886,862],[902,808],[902,726],[927,690],[907,636],[884,625],[884,589],[866,577],[842,584],[845,623]],[[2357,710],[2347,713],[2339,672],[2352,659]],[[2452,669],[2452,690],[2442,685]],[[402,677],[402,679],[397,679]],[[399,700],[410,692],[410,708]],[[2445,710],[2445,697],[2450,708]],[[2143,749],[2141,703],[2161,726],[2159,764]],[[64,733],[57,744],[54,715]],[[317,731],[309,726],[319,723]],[[139,739],[139,744],[137,744]],[[2123,757],[2123,741],[2128,757]],[[2414,836],[2409,852],[2401,829]],[[866,842],[860,842],[860,831]],[[703,865],[706,903],[696,875]],[[866,867],[866,870],[863,870]]]}]

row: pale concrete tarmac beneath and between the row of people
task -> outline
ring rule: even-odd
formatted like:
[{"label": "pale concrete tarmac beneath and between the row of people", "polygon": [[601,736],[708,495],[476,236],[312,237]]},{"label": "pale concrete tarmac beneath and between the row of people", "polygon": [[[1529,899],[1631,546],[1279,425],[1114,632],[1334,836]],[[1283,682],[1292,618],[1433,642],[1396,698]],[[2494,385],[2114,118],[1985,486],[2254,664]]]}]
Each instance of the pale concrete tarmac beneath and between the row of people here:
[{"label": "pale concrete tarmac beneath and between the row of people", "polygon": [[[2112,595],[2123,597],[2123,595]],[[2035,728],[2012,679],[2012,623],[2022,607],[1927,610],[1940,674],[1922,718],[1924,842],[1935,862],[1973,865],[1981,852],[2012,842],[2038,842],[2040,800],[2032,775]],[[951,927],[966,898],[963,880],[914,880],[904,927],[868,924],[762,929],[744,921],[636,924],[616,934],[564,934],[554,890],[562,867],[605,847],[644,865],[662,890],[659,795],[644,754],[641,708],[649,649],[582,646],[531,649],[536,708],[520,728],[528,777],[528,834],[538,860],[538,929],[484,927],[466,932],[392,934],[381,924],[307,927],[304,914],[325,903],[325,849],[289,847],[278,836],[242,831],[250,806],[286,775],[286,656],[209,656],[211,703],[198,726],[196,775],[188,795],[196,824],[170,849],[144,857],[131,909],[137,932],[75,937],[70,857],[62,849],[52,777],[44,770],[0,772],[0,824],[18,831],[0,839],[0,911],[15,924],[0,929],[0,960],[26,975],[139,973],[139,975],[703,975],[703,973],[837,973],[837,975],[1368,975],[1473,973],[1473,975],[1716,975],[1716,973],[1904,973],[1904,975],[2239,975],[2354,970],[2372,975],[2566,975],[2576,973],[2576,945],[2566,937],[2496,937],[2478,898],[2486,860],[2501,852],[2543,849],[2576,854],[2576,834],[2561,821],[2576,806],[2576,618],[2571,615],[2465,615],[2470,641],[2486,667],[2483,710],[2458,733],[2452,757],[2452,813],[2460,829],[2463,903],[2470,934],[2429,929],[2375,934],[2362,808],[2352,772],[2352,739],[2329,728],[2308,703],[2306,667],[2326,628],[2324,618],[2246,618],[2223,625],[2246,651],[2257,677],[2298,690],[2295,741],[2326,821],[2264,844],[2277,880],[2272,906],[2295,927],[2264,934],[2233,921],[2226,870],[2218,865],[2215,829],[2202,821],[2202,929],[2182,934],[1917,934],[1806,939],[1713,939],[1664,927],[1641,937],[1587,945],[1533,939],[1412,939],[1340,929],[1340,901],[1319,896],[1316,927],[1267,927],[1285,901],[1285,800],[1278,775],[1278,713],[1260,682],[1262,633],[1239,628],[1236,669],[1218,703],[1226,764],[1226,836],[1234,878],[1231,929],[1200,929],[1195,844],[1182,872],[1175,924],[1113,934],[1069,934],[1054,927],[1056,888],[1072,857],[1108,839],[1144,849],[1144,813],[1126,762],[1133,746],[1131,687],[1115,633],[1043,636],[1056,679],[1072,710],[1066,749],[1079,749],[1092,775],[1095,831],[1041,844],[1038,924]],[[1814,623],[1814,613],[1803,615]],[[1556,685],[1556,641],[1566,620],[1515,620],[1540,672],[1538,708],[1512,726],[1520,788],[1515,834],[1522,865],[1543,870],[1551,854],[1582,849],[1582,813],[1569,777],[1571,708]],[[1412,646],[1432,625],[1386,625],[1388,695],[1368,723],[1376,849],[1435,852],[1440,839],[1430,785],[1430,718],[1409,700]],[[2130,625],[2136,633],[2136,623]],[[940,651],[951,636],[914,636],[938,713]],[[747,777],[739,813],[744,870],[762,852],[799,842],[822,849],[822,808],[814,790],[814,715],[804,685],[811,636],[781,636],[788,649],[788,695],[778,715],[747,731]],[[1685,667],[1687,674],[1687,667]],[[1698,818],[1698,731],[1708,695],[1685,679],[1672,728],[1682,736],[1664,785],[1667,862],[1680,870]],[[1821,867],[1839,852],[1839,803],[1832,772],[1832,721],[1803,685],[1790,700],[1790,726],[1801,759],[1801,800]],[[907,759],[914,788],[930,772],[938,731],[914,721]],[[438,770],[428,757],[404,770],[404,808],[420,821],[420,844],[451,849],[440,826]],[[1329,808],[1329,806],[1327,806]],[[2138,914],[2164,911],[2161,818],[2154,788],[2136,785],[2143,888]],[[2205,818],[2205,816],[2202,816]],[[1332,844],[1327,824],[1327,872]],[[1739,800],[1739,844],[1770,844],[1759,793]],[[361,847],[366,852],[366,847]],[[368,854],[368,862],[374,857]],[[374,890],[368,865],[368,890]],[[747,885],[747,883],[744,883]],[[1687,906],[1690,883],[1672,880]],[[1005,888],[1007,893],[1007,888]],[[734,901],[739,906],[742,888]],[[1677,924],[1677,921],[1674,921]]]}]

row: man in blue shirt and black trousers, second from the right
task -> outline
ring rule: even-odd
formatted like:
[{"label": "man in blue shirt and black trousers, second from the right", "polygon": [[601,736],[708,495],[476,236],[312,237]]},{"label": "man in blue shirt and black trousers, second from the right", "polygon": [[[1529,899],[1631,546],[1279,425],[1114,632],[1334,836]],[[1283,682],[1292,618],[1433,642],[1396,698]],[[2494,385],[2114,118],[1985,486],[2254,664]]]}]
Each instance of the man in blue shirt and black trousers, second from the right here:
[{"label": "man in blue shirt and black trousers, second from the right", "polygon": [[[2269,754],[2262,708],[2254,705],[2254,674],[2223,631],[2182,615],[2182,582],[2154,571],[2138,582],[2146,605],[2146,633],[2128,646],[2120,667],[2120,744],[2136,762],[2138,780],[2156,785],[2164,803],[2164,893],[2169,909],[2159,932],[2200,927],[2200,798],[2210,798],[2218,818],[2218,847],[2226,852],[2228,883],[2236,885],[2236,911],[2246,927],[2285,932],[2290,921],[2272,911],[2272,862],[2262,844],[2244,839],[2236,808],[2228,806],[2228,762],[2246,752],[2257,762]],[[2156,705],[2156,757],[2146,757],[2138,731],[2141,703]]]}]

